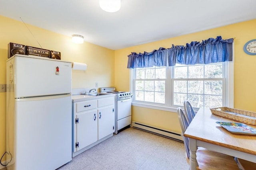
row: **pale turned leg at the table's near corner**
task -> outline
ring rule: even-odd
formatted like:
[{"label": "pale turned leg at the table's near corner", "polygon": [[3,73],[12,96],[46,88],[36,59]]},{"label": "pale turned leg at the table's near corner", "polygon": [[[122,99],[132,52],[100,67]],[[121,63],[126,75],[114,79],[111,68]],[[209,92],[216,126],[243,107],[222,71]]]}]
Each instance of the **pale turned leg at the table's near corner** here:
[{"label": "pale turned leg at the table's near corner", "polygon": [[196,170],[196,140],[195,139],[189,139],[189,154],[190,154],[190,158],[189,158],[189,166],[190,166],[190,170]]}]

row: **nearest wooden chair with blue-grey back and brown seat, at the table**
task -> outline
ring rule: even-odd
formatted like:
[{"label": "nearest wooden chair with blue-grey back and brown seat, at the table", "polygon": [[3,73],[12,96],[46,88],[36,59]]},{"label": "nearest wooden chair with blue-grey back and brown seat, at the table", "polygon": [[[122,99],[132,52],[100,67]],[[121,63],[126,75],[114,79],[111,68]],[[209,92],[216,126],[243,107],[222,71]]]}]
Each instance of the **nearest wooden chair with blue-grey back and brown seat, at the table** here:
[{"label": "nearest wooden chair with blue-grey back and brown seat, at the table", "polygon": [[[180,121],[180,127],[182,129],[182,135],[186,150],[186,158],[189,164],[189,139],[184,137],[184,132],[186,131],[189,122],[180,107],[177,109],[178,118]],[[232,156],[222,154],[219,152],[214,152],[212,150],[204,149],[198,147],[196,151],[197,169],[198,170],[239,170],[238,164]]]}]

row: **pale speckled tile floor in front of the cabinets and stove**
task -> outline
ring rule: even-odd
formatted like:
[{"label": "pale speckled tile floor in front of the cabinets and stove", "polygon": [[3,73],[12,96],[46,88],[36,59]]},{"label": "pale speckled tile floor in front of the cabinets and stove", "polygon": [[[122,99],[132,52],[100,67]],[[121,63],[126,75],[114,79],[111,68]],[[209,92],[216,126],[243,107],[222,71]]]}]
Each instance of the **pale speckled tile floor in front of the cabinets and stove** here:
[{"label": "pale speckled tile floor in front of the cabinets and stove", "polygon": [[74,157],[58,170],[188,170],[184,144],[132,127]]}]

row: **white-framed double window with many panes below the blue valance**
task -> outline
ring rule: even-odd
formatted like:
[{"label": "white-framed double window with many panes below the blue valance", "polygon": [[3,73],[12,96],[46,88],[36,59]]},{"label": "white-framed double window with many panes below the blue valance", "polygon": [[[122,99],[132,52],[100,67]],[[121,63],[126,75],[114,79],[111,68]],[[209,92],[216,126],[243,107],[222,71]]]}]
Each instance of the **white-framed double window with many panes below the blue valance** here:
[{"label": "white-framed double window with many panes below the blue valance", "polygon": [[134,68],[131,70],[133,105],[175,112],[184,100],[189,100],[195,108],[231,107],[233,78],[228,74],[233,72],[231,63]]}]

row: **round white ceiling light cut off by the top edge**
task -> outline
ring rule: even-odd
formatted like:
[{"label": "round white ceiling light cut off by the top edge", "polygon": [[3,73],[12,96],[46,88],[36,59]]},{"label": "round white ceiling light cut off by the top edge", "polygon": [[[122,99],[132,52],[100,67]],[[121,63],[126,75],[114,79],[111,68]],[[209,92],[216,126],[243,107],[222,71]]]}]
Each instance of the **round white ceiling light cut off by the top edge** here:
[{"label": "round white ceiling light cut off by the top edge", "polygon": [[121,0],[99,0],[100,8],[106,12],[117,12],[121,7]]}]

